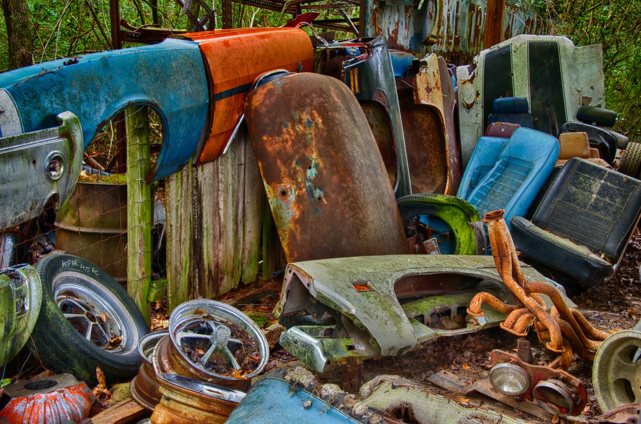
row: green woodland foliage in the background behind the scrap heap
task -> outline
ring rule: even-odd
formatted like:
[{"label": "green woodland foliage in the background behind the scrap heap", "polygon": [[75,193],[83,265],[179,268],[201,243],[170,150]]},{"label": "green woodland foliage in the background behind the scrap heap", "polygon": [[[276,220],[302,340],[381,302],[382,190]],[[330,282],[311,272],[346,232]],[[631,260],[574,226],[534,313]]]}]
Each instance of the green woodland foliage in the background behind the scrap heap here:
[{"label": "green woodland foliage in the background behind the scrap heap", "polygon": [[[121,18],[134,26],[152,24],[151,2],[121,0]],[[108,0],[26,3],[33,22],[35,63],[111,48]],[[160,26],[190,26],[174,0],[157,3]],[[515,5],[547,15],[554,35],[565,35],[576,45],[603,45],[606,107],[619,113],[615,129],[641,141],[641,0],[522,0]],[[220,16],[221,0],[213,0],[211,6]],[[288,15],[239,3],[233,3],[233,17],[235,27],[280,26],[289,19]],[[219,20],[217,28],[221,24]],[[4,28],[0,16],[0,71],[8,68]]]}]

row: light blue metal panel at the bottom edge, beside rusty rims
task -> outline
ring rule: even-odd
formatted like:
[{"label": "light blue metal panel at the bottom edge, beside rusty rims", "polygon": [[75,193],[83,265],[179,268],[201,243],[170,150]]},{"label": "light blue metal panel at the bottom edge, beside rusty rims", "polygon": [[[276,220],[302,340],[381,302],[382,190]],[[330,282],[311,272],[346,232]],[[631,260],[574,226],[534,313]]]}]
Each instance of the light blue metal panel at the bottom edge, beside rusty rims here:
[{"label": "light blue metal panel at the bottom edge, beside rusty rims", "polygon": [[[311,402],[311,405],[303,406],[305,402]],[[247,396],[231,412],[225,422],[233,424],[360,424],[300,387],[271,377],[254,382]]]}]

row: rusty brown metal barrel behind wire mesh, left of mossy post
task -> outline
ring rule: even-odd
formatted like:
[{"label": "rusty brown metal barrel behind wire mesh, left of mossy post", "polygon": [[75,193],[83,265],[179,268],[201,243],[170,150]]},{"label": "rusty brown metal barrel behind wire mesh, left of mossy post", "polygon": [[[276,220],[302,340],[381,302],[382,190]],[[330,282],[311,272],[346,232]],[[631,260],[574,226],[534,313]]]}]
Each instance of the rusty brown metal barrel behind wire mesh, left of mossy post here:
[{"label": "rusty brown metal barrel behind wire mesh, left of mossy post", "polygon": [[56,249],[87,259],[126,286],[126,184],[78,183],[55,225]]}]

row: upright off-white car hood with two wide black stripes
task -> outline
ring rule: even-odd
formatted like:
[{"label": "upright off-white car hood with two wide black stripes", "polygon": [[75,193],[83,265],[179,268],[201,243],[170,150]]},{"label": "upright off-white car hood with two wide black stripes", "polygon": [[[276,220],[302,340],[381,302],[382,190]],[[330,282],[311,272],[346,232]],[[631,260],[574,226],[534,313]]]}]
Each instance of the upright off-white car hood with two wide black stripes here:
[{"label": "upright off-white car hood with two wide black stripes", "polygon": [[456,68],[463,165],[485,133],[492,101],[525,97],[538,131],[558,135],[583,105],[605,106],[601,45],[575,47],[569,38],[519,35],[481,51]]}]

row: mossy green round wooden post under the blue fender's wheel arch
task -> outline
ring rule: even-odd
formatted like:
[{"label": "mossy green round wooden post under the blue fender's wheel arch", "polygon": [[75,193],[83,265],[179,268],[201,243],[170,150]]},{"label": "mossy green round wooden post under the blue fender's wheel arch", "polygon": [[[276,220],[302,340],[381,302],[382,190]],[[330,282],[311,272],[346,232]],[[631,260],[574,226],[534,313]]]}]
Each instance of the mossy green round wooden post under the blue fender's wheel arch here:
[{"label": "mossy green round wooden post under the blue fender's wheel arch", "polygon": [[146,106],[126,111],[127,126],[127,291],[149,326],[151,281],[151,186],[145,176],[149,161],[149,116]]}]

